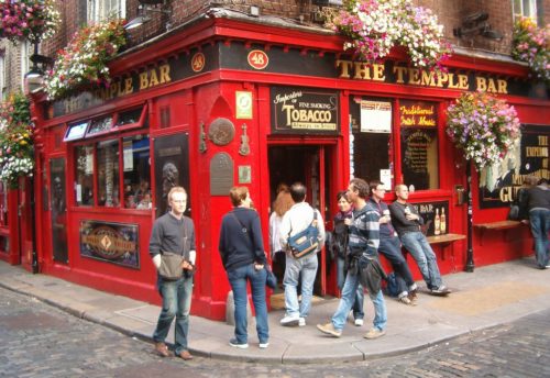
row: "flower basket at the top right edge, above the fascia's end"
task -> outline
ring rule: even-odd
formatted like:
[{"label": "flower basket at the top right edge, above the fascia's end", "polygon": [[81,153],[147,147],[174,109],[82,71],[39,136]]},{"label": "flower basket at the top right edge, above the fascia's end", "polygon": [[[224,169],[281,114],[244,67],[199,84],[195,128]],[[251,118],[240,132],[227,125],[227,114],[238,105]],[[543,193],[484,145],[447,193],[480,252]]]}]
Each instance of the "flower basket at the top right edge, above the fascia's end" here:
[{"label": "flower basket at the top right edge, above the fascia's end", "polygon": [[528,18],[514,24],[512,57],[526,62],[532,76],[550,84],[550,24],[538,29]]}]

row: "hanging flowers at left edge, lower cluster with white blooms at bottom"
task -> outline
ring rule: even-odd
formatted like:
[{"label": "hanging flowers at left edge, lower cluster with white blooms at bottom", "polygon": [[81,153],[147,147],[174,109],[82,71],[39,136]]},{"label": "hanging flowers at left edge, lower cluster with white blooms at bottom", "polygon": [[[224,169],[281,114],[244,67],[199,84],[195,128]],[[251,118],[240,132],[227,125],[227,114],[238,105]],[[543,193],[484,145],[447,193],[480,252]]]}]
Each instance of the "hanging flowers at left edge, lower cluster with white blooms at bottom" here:
[{"label": "hanging flowers at left edge, lower cluster with white blooms at bottom", "polygon": [[34,125],[29,105],[21,93],[0,103],[0,181],[10,188],[18,187],[19,177],[33,175]]}]

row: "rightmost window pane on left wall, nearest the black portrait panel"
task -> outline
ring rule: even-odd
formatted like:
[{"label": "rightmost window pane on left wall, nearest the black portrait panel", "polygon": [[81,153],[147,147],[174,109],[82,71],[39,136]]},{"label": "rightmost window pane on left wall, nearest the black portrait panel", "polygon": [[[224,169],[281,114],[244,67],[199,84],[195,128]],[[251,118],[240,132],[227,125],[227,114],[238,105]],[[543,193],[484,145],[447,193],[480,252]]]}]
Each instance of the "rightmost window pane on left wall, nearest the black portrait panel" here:
[{"label": "rightmost window pane on left wall, nearest the black portrait panel", "polygon": [[148,135],[135,135],[123,140],[124,208],[127,209],[153,208],[148,143]]}]

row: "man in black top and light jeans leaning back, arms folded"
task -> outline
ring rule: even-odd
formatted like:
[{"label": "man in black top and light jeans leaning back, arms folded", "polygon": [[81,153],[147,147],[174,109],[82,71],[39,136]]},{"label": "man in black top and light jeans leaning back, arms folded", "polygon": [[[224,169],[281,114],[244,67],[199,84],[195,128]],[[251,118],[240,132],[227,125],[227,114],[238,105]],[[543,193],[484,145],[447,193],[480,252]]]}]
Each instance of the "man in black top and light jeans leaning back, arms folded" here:
[{"label": "man in black top and light jeans leaning back, arms folded", "polygon": [[392,224],[399,234],[403,245],[415,258],[431,294],[447,296],[451,292],[441,279],[438,260],[428,240],[420,231],[424,219],[416,208],[407,202],[409,190],[406,185],[396,185],[397,200],[389,205]]}]

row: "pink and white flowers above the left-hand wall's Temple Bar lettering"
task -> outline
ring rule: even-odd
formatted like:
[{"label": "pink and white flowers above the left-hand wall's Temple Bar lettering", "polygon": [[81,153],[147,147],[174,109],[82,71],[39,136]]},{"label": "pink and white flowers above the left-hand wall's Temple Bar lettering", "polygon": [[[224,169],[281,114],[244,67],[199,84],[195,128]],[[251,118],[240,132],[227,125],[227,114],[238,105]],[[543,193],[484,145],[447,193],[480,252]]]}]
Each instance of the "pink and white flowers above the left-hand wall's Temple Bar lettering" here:
[{"label": "pink and white flowers above the left-hand wall's Temple Bar lettering", "polygon": [[111,20],[80,29],[58,52],[53,69],[44,78],[48,99],[61,99],[76,90],[107,88],[107,64],[127,43],[124,24],[124,20]]}]

